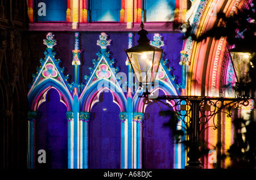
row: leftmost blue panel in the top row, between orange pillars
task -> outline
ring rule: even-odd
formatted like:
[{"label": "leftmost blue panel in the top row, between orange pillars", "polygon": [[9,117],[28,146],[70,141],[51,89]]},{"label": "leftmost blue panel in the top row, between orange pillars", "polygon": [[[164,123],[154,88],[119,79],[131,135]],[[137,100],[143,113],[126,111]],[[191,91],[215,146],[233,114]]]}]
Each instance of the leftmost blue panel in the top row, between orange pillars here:
[{"label": "leftmost blue panel in the top row, between orange pillars", "polygon": [[35,0],[34,13],[36,22],[66,22],[67,0]]}]

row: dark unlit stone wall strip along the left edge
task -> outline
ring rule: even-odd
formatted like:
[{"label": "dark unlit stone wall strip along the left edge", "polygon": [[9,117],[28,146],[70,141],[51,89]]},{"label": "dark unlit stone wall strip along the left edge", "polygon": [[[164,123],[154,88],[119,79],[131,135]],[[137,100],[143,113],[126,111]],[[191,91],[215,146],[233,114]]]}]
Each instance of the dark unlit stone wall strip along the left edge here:
[{"label": "dark unlit stone wall strip along the left edge", "polygon": [[27,2],[0,5],[0,168],[27,168]]}]

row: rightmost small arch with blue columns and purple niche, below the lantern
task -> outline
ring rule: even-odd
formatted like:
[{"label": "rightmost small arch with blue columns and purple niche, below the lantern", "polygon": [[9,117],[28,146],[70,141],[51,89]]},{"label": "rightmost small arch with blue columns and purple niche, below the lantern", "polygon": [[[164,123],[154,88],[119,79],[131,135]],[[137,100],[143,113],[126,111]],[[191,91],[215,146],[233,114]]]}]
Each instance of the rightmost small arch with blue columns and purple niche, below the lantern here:
[{"label": "rightmost small arch with blue columns and purple niche, below the lantern", "polygon": [[[162,80],[159,80],[159,86],[151,92],[154,92],[154,91],[162,91],[162,93],[160,93],[160,95],[162,95],[162,96],[166,96],[166,95],[167,96],[168,95],[178,96],[179,95],[179,93],[177,92],[177,89],[174,87],[173,84],[164,82]],[[160,144],[165,144],[165,145],[163,145],[163,147],[167,147],[167,145],[168,145],[169,150],[170,150],[170,148],[172,148],[172,149],[170,151],[167,150],[168,148],[163,150],[163,148],[158,148],[157,146],[153,145],[152,147],[155,147],[155,149],[162,149],[161,150],[162,153],[158,152],[159,156],[156,157],[155,155],[152,154],[152,152],[154,152],[154,151],[151,151],[152,149],[150,149],[150,151],[148,151],[148,147],[151,147],[151,146],[148,146],[148,144],[151,144],[154,142],[154,141],[152,141],[152,138],[158,139],[160,137],[160,134],[158,134],[159,137],[151,136],[151,139],[147,139],[150,137],[148,136],[148,134],[146,134],[147,132],[150,132],[152,129],[154,129],[154,133],[157,130],[157,132],[165,133],[165,135],[162,137],[167,137],[166,134],[168,134],[170,132],[168,131],[168,133],[167,133],[167,131],[161,131],[160,127],[162,128],[161,123],[164,123],[163,121],[167,122],[169,117],[159,116],[159,112],[160,112],[160,110],[171,110],[170,107],[163,105],[161,102],[158,102],[158,104],[155,104],[154,102],[145,104],[143,101],[144,98],[135,98],[134,100],[135,100],[134,101],[134,112],[142,113],[144,116],[143,121],[140,121],[140,123],[137,123],[137,126],[136,126],[136,128],[139,132],[139,135],[137,134],[137,136],[135,137],[137,144],[139,144],[136,147],[136,151],[140,152],[140,153],[138,153],[138,155],[142,155],[142,156],[137,157],[138,167],[140,167],[140,168],[155,167],[156,168],[156,166],[158,166],[157,164],[155,164],[156,161],[159,161],[159,162],[161,161],[161,163],[163,163],[162,161],[166,160],[166,161],[164,161],[164,163],[170,162],[169,168],[174,168],[175,163],[177,163],[176,158],[180,158],[181,156],[185,155],[185,151],[183,151],[184,148],[179,147],[177,144],[171,143],[170,139],[162,140],[162,142]],[[161,100],[161,101],[164,102],[164,104],[167,103],[167,101],[166,102],[164,100]],[[168,102],[168,103],[171,103],[171,102]],[[158,112],[158,110],[159,110],[159,112]],[[181,121],[179,122],[179,124],[180,123],[181,123]],[[169,134],[168,134],[168,136],[169,136]],[[159,142],[159,140],[156,140],[156,142]],[[166,143],[166,142],[169,142],[169,143]],[[158,143],[155,143],[155,144],[158,144]],[[179,153],[177,153],[177,152],[179,152]],[[154,153],[156,153],[156,151]],[[148,156],[148,155],[150,155],[150,156]],[[166,156],[165,158],[163,158],[163,156],[165,156],[165,155],[168,155],[168,157]],[[156,159],[158,159],[158,160],[156,160]],[[152,162],[151,162],[151,160],[152,160]],[[158,166],[158,168],[160,168],[160,166]],[[163,166],[162,166],[162,168],[163,168]]]}]

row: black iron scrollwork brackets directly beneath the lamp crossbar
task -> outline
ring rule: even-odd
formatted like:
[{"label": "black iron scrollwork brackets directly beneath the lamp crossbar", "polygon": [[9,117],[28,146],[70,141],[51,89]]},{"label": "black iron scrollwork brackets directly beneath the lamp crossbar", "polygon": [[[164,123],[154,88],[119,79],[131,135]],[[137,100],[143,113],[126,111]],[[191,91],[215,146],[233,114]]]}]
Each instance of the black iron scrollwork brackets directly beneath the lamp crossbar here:
[{"label": "black iron scrollwork brackets directly beneath the lamp crossbar", "polygon": [[[214,130],[218,128],[216,118],[214,118],[218,113],[225,113],[227,117],[232,117],[233,109],[245,108],[251,104],[250,100],[245,98],[200,96],[158,96],[157,98],[144,98],[143,102],[144,104],[161,103],[168,106],[183,121],[186,130],[192,122],[192,104],[198,104],[199,116],[197,121],[201,127],[199,135],[203,134],[209,127],[213,127]],[[211,120],[213,121],[212,125],[208,125]]]}]

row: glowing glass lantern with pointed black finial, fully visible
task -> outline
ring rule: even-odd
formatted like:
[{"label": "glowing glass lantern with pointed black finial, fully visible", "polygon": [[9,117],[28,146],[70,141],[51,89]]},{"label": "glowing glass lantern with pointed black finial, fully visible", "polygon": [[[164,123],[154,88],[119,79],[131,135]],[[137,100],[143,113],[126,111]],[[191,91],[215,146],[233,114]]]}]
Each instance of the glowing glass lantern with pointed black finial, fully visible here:
[{"label": "glowing glass lantern with pointed black finial, fully visible", "polygon": [[141,31],[138,32],[138,45],[126,49],[125,52],[133,67],[136,79],[139,82],[139,87],[146,89],[143,92],[144,97],[148,97],[148,88],[154,87],[156,74],[162,57],[163,49],[156,48],[149,44],[147,38],[148,32],[143,29],[144,24],[141,22]]}]

